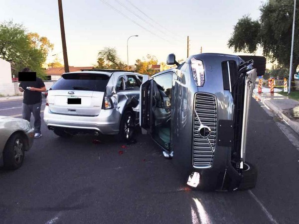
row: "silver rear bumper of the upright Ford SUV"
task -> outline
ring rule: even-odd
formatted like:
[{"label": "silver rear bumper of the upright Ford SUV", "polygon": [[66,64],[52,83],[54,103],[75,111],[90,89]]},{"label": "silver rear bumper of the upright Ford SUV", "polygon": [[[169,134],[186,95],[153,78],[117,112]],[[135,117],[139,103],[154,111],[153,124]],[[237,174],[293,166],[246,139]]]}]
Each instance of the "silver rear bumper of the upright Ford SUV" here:
[{"label": "silver rear bumper of the upright Ford SUV", "polygon": [[118,134],[121,113],[116,109],[101,110],[98,116],[74,116],[52,113],[49,107],[44,110],[44,121],[49,127],[97,130],[102,134]]}]

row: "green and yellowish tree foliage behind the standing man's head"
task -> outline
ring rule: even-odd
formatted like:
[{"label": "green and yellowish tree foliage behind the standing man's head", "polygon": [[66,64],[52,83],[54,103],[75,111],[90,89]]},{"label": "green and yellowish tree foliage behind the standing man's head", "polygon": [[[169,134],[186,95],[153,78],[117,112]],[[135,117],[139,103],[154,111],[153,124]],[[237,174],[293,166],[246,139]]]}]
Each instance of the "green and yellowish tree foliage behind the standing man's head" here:
[{"label": "green and yellowish tree foliage behind the standing man's head", "polygon": [[16,75],[24,67],[35,71],[40,78],[45,77],[42,65],[46,61],[48,51],[53,44],[46,37],[37,33],[27,33],[22,24],[4,21],[0,23],[0,58],[10,62],[16,69]]}]

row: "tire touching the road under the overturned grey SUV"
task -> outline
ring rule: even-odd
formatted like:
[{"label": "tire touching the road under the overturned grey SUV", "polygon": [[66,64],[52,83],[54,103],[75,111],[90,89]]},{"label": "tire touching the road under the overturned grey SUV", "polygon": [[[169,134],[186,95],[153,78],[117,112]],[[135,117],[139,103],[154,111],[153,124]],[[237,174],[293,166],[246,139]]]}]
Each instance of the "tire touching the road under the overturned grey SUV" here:
[{"label": "tire touching the road under the overturned grey SUV", "polygon": [[251,163],[245,163],[243,169],[243,179],[238,190],[244,191],[255,187],[258,179],[258,170]]}]

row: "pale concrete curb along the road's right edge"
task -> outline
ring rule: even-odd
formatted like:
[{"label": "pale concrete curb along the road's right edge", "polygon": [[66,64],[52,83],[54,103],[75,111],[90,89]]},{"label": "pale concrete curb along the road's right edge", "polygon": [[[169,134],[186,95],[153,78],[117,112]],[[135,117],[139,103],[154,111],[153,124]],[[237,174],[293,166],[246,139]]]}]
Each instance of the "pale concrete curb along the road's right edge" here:
[{"label": "pale concrete curb along the road's right edge", "polygon": [[271,109],[275,113],[275,115],[282,118],[296,133],[299,134],[299,123],[290,119],[288,116],[284,114],[284,111],[274,104],[271,103],[271,101],[265,100],[260,94],[253,92],[253,94],[262,102],[264,103],[268,108]]}]

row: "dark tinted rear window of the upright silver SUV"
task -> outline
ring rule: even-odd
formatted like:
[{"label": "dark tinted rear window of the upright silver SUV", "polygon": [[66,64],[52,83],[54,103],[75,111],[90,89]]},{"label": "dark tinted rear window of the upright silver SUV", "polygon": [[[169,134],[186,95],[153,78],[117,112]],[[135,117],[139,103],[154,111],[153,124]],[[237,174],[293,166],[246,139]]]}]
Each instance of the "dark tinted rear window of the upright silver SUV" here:
[{"label": "dark tinted rear window of the upright silver SUV", "polygon": [[109,76],[91,73],[66,73],[51,90],[84,90],[105,92]]}]

